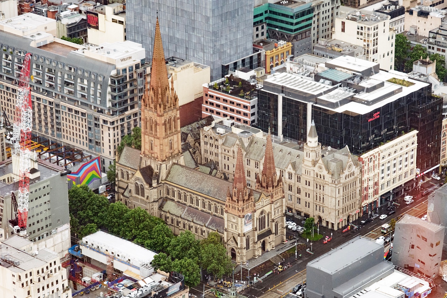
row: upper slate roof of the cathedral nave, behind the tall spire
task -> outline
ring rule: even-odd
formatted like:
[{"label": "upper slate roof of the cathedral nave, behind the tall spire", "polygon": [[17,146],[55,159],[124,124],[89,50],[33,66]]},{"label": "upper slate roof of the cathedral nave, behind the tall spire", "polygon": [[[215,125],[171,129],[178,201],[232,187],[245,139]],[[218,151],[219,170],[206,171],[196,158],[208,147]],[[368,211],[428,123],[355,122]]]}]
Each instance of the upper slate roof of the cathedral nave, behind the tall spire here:
[{"label": "upper slate roof of the cathedral nave, behind the tall spire", "polygon": [[232,186],[230,182],[181,166],[180,164],[171,166],[165,180],[223,202],[227,200],[228,187],[231,188]]}]

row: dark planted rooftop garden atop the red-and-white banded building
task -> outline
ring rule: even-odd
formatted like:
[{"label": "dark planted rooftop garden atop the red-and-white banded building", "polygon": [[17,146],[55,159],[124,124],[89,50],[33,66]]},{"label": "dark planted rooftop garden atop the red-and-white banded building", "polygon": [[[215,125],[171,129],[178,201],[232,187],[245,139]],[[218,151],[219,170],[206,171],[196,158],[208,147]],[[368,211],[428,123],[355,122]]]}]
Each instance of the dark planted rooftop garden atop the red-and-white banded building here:
[{"label": "dark planted rooftop garden atop the red-and-white banded building", "polygon": [[224,79],[211,82],[208,87],[231,94],[234,97],[243,97],[247,100],[252,100],[255,97],[256,85],[252,85],[250,82],[240,79],[233,74]]}]

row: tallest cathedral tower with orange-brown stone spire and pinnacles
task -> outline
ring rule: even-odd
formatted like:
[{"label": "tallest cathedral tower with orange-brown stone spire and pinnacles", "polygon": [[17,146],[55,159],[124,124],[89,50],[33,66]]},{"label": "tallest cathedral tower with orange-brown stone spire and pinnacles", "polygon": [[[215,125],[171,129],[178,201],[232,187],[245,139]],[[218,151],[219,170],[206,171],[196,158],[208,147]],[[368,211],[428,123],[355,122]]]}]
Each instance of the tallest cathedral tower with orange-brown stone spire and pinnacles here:
[{"label": "tallest cathedral tower with orange-brown stone spire and pinnacles", "polygon": [[[141,155],[143,157],[155,163],[164,163],[181,155],[179,116],[178,97],[173,87],[173,80],[169,86],[157,17],[151,82],[141,102]],[[149,163],[152,164],[151,161]]]}]

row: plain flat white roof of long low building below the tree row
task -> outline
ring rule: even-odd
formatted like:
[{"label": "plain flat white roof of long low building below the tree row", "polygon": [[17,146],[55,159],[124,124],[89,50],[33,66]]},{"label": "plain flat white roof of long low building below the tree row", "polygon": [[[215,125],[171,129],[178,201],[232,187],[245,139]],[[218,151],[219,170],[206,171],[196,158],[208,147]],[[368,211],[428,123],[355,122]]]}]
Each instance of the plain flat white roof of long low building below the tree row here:
[{"label": "plain flat white roof of long low building below the tree row", "polygon": [[87,247],[89,244],[85,244],[86,241],[96,245],[102,244],[102,247],[107,247],[109,251],[114,251],[115,254],[120,252],[120,254],[130,259],[139,260],[141,264],[149,264],[157,254],[131,241],[103,231],[97,231],[96,233],[85,236],[81,241]]}]

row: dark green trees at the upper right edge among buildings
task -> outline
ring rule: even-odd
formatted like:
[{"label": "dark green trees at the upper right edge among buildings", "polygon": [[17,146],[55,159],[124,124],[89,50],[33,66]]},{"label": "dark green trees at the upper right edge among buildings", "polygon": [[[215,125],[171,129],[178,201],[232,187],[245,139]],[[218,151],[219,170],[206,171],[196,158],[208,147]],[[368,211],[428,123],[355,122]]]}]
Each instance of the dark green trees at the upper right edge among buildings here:
[{"label": "dark green trees at the upper right edge among buildings", "polygon": [[427,54],[427,49],[421,45],[413,48],[404,34],[396,34],[394,43],[394,69],[397,71],[410,72],[413,71],[413,62],[418,59],[426,59],[427,56],[431,61],[436,60],[436,74],[442,82],[447,74],[445,68],[444,56],[439,54]]}]

